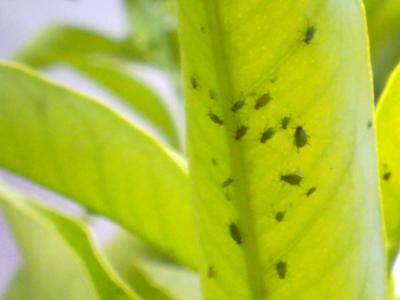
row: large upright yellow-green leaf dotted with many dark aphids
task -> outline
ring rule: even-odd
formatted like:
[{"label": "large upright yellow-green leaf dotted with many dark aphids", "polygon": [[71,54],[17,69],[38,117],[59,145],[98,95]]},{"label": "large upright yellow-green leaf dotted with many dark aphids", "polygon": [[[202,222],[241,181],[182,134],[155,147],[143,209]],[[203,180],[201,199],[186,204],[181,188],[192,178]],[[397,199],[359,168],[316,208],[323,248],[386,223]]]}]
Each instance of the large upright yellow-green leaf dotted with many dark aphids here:
[{"label": "large upright yellow-green leaf dotted with many dark aphids", "polygon": [[179,15],[205,297],[385,299],[360,2]]}]

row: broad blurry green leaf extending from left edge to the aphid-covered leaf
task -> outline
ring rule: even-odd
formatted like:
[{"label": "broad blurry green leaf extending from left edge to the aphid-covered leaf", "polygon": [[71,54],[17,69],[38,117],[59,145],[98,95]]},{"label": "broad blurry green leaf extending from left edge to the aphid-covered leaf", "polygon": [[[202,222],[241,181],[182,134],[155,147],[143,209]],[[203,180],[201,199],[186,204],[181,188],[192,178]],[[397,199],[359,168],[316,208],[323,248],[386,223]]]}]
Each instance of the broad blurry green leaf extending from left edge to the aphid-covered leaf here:
[{"label": "broad blurry green leaf extending from left edge to the aphid-covered leaf", "polygon": [[197,263],[181,159],[96,100],[0,63],[0,166]]}]

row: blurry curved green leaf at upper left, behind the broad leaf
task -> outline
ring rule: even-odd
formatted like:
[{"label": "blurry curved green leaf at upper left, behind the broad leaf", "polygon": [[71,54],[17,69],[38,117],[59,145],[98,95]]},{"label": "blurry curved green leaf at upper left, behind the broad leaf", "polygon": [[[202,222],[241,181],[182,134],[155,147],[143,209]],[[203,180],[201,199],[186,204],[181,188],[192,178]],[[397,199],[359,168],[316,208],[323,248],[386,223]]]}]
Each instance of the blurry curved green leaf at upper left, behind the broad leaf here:
[{"label": "blurry curved green leaf at upper left, behind the broad leaf", "polygon": [[[16,59],[34,67],[60,63],[74,67],[141,113],[178,147],[171,115],[160,97],[133,78],[123,63],[117,63],[115,57],[121,56],[125,48],[122,42],[83,29],[62,26],[39,34],[20,50]],[[133,58],[141,59],[141,56],[135,54]]]}]

